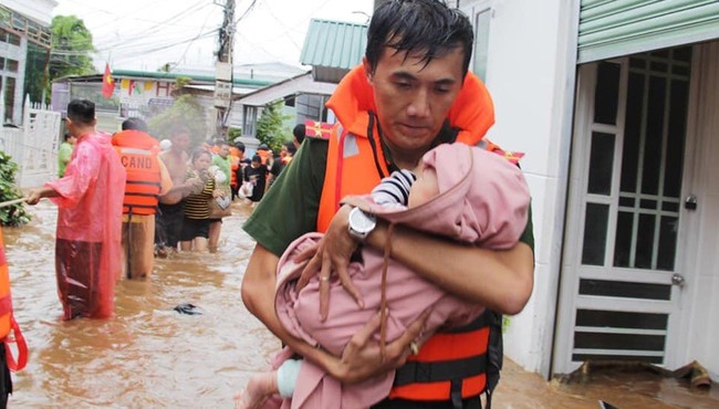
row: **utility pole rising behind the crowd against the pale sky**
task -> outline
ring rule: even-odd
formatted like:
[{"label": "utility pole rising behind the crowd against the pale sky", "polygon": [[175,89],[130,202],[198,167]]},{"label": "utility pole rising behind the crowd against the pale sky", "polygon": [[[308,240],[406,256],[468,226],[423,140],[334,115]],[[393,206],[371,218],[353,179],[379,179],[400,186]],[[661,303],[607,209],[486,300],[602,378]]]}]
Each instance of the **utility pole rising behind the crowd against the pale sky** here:
[{"label": "utility pole rising behind the crowd against the pale sky", "polygon": [[[218,1],[218,0],[216,0]],[[216,4],[218,4],[216,2]],[[225,18],[219,30],[215,74],[216,132],[226,134],[226,122],[232,101],[232,42],[235,38],[235,0],[225,0]]]}]

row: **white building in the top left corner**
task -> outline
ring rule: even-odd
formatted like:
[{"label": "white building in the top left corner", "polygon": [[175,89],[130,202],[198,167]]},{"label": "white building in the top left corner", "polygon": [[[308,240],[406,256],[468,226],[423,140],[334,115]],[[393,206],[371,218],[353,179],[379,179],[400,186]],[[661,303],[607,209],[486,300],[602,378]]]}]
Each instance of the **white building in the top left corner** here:
[{"label": "white building in the top left corner", "polygon": [[0,101],[3,124],[20,124],[29,52],[50,52],[55,0],[0,0]]}]

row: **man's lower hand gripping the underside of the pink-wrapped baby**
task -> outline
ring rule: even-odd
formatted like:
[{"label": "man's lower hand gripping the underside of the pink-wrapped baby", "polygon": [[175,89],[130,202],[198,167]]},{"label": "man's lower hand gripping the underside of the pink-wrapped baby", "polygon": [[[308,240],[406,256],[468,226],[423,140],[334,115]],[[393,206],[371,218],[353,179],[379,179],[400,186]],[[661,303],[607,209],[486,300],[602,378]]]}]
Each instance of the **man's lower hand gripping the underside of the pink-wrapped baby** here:
[{"label": "man's lower hand gripping the underside of the pink-wrapped baby", "polygon": [[399,338],[386,345],[384,360],[379,344],[372,340],[382,324],[381,314],[375,314],[347,343],[342,357],[329,366],[329,373],[342,382],[355,384],[403,366],[413,354],[410,344],[420,336],[430,311],[431,307],[425,310]]}]

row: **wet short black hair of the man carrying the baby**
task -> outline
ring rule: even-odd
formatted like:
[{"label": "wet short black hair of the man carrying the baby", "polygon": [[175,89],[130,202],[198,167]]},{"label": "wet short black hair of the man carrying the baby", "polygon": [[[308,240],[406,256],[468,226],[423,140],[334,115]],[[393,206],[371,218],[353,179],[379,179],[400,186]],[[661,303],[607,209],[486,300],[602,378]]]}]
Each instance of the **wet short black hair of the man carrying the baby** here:
[{"label": "wet short black hair of the man carrying the baby", "polygon": [[467,15],[442,0],[387,0],[369,22],[365,56],[374,73],[385,46],[407,55],[419,54],[426,64],[460,48],[463,76],[472,56],[473,38]]}]

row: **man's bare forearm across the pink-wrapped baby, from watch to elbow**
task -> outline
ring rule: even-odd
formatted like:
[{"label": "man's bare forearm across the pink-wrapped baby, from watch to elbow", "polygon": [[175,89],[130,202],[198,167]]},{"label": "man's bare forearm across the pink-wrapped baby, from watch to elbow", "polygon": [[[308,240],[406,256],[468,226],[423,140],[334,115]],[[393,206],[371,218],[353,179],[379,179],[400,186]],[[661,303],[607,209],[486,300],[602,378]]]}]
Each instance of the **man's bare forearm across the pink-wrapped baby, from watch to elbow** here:
[{"label": "man's bare forearm across the pink-wrapped baby, from watch to elbow", "polygon": [[[386,222],[367,238],[377,249],[386,240]],[[510,250],[490,250],[397,227],[392,256],[444,290],[500,313],[519,313],[532,293],[533,253],[521,242]]]}]

